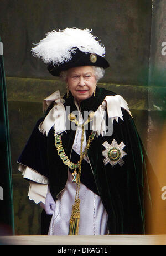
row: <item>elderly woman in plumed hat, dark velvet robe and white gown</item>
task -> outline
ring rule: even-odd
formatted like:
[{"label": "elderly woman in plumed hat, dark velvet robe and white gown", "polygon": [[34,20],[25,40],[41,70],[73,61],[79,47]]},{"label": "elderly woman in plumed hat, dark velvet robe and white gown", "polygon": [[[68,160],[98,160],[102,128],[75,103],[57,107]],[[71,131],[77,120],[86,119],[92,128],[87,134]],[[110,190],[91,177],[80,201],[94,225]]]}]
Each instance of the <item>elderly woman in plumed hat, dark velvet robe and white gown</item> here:
[{"label": "elderly woman in plumed hat, dark velvet robe and white gown", "polygon": [[96,87],[105,48],[89,29],[66,28],[32,52],[67,88],[44,100],[18,160],[29,199],[51,217],[42,234],[144,234],[144,150],[127,102]]}]

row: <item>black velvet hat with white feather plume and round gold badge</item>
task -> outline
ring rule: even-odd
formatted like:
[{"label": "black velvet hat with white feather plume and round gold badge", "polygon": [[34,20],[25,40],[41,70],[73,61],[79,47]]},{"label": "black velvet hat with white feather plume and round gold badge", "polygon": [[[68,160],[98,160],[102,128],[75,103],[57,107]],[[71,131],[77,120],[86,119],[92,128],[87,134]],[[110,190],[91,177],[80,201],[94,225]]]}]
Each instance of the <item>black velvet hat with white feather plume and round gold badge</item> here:
[{"label": "black velvet hat with white feather plume and round gold badge", "polygon": [[32,53],[42,58],[53,76],[59,76],[61,71],[72,67],[109,67],[104,58],[105,47],[89,29],[66,28],[64,31],[49,32],[32,48]]}]

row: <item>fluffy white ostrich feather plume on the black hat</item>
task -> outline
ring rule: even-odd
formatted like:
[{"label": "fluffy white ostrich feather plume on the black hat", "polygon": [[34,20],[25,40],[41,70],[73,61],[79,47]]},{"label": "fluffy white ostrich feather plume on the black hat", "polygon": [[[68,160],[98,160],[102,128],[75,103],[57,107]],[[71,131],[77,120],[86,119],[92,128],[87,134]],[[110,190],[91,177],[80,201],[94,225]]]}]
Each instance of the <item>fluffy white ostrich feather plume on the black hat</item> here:
[{"label": "fluffy white ostrich feather plume on the black hat", "polygon": [[[91,29],[92,31],[92,29]],[[51,31],[46,33],[46,37],[40,40],[32,48],[35,57],[42,58],[48,64],[60,65],[71,60],[71,53],[79,48],[82,52],[96,53],[105,56],[105,47],[101,45],[97,37],[91,34],[89,29],[66,28],[63,31]]]}]

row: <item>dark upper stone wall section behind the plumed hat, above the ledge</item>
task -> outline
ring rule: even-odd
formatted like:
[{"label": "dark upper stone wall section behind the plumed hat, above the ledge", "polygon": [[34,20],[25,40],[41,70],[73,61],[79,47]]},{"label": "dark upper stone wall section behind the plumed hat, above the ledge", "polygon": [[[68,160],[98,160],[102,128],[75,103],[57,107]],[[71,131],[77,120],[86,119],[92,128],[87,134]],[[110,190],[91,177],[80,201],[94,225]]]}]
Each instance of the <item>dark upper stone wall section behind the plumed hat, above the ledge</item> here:
[{"label": "dark upper stone wall section behind the plumed hat, above the ledge", "polygon": [[1,0],[0,31],[6,75],[47,77],[32,57],[33,43],[53,29],[93,29],[106,47],[106,82],[148,84],[151,0]]}]

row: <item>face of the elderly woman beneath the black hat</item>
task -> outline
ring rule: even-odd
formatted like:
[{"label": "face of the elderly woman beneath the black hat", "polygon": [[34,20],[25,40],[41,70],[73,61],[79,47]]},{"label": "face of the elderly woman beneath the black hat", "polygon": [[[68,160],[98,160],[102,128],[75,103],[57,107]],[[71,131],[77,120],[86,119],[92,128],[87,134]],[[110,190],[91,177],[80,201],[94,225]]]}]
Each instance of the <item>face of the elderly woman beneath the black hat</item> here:
[{"label": "face of the elderly woman beneath the black hat", "polygon": [[78,102],[91,97],[96,88],[96,78],[91,66],[70,68],[66,82],[69,91]]}]

